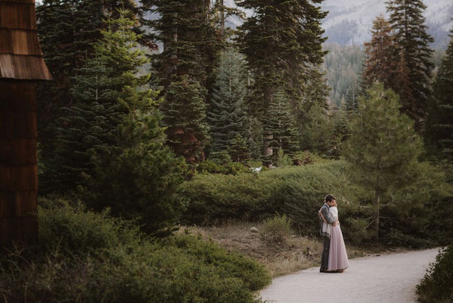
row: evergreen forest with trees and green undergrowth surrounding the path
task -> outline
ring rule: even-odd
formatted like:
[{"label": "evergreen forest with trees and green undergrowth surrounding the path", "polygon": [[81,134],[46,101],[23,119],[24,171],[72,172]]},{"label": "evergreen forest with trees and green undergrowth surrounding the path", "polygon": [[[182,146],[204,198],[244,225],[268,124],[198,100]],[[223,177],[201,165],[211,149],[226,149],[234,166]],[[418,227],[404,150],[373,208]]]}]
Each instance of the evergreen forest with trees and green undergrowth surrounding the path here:
[{"label": "evergreen forest with trees and green undergrowth surrounding the path", "polygon": [[450,253],[453,28],[433,49],[423,2],[389,0],[340,46],[322,1],[40,1],[39,245],[2,252],[2,296],[258,302],[265,267],[184,226],[317,237],[328,193],[347,244]]}]

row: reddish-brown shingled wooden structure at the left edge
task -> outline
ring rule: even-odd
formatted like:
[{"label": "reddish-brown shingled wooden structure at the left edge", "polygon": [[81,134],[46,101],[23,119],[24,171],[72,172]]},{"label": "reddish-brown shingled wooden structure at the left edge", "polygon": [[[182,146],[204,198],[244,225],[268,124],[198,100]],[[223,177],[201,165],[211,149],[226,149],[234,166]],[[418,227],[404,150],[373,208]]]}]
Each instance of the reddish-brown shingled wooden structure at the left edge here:
[{"label": "reddish-brown shingled wooden structure at the left edge", "polygon": [[0,0],[0,245],[34,242],[38,170],[36,82],[51,80],[34,0]]}]

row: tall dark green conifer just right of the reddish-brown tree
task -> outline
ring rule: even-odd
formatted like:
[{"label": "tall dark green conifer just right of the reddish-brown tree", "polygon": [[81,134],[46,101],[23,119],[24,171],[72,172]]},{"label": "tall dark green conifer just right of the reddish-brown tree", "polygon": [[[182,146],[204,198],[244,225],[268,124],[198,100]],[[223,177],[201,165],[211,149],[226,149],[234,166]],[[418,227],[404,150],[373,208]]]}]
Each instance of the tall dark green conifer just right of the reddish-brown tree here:
[{"label": "tall dark green conifer just right of the reddish-brown tree", "polygon": [[407,78],[411,83],[410,94],[402,89],[406,85],[400,83],[396,93],[403,102],[403,112],[414,119],[417,131],[422,132],[433,68],[431,62],[433,50],[429,48],[429,43],[434,42],[434,39],[426,33],[423,17],[426,6],[421,0],[392,0],[386,4],[395,37],[394,57],[400,61],[404,58],[405,66],[401,66],[399,70],[407,72],[407,75],[398,75],[398,79]]}]

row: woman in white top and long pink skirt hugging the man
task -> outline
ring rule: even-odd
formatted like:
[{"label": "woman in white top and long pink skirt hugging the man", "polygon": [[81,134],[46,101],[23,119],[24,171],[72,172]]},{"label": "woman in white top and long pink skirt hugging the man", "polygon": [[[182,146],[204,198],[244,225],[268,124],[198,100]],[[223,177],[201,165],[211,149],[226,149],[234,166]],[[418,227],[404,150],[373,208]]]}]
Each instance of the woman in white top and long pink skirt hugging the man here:
[{"label": "woman in white top and long pink skirt hugging the man", "polygon": [[[337,203],[329,208],[330,214],[337,219],[337,221],[330,225],[330,250],[329,250],[329,263],[327,267],[328,272],[343,272],[349,266],[348,254],[346,253],[346,247],[344,246],[343,233],[341,232],[340,222],[338,221],[338,208]],[[320,216],[325,223],[327,220],[320,212]]]}]

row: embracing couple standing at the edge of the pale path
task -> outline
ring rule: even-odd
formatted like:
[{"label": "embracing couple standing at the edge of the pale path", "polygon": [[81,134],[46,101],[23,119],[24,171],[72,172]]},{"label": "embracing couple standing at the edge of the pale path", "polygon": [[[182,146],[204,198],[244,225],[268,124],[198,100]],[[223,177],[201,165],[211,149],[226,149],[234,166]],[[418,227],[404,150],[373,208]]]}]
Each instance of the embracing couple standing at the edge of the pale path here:
[{"label": "embracing couple standing at the edge of the pale path", "polygon": [[324,248],[321,255],[320,272],[343,272],[349,266],[343,234],[338,222],[337,201],[333,195],[326,195],[319,210],[321,235]]}]

